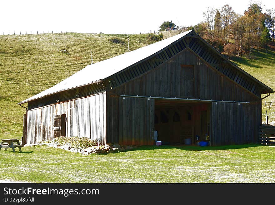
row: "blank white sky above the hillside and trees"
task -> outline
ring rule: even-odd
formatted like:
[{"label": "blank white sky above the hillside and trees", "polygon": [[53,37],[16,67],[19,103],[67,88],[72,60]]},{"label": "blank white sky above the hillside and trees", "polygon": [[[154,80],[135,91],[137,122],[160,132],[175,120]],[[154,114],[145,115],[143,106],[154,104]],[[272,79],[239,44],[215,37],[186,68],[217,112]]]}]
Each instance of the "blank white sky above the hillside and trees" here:
[{"label": "blank white sky above the hillside and trees", "polygon": [[[0,0],[0,34],[82,32],[142,33],[158,30],[164,21],[196,25],[207,7],[228,4],[236,13],[247,10],[249,0]],[[275,8],[274,0],[262,2],[262,12]]]}]

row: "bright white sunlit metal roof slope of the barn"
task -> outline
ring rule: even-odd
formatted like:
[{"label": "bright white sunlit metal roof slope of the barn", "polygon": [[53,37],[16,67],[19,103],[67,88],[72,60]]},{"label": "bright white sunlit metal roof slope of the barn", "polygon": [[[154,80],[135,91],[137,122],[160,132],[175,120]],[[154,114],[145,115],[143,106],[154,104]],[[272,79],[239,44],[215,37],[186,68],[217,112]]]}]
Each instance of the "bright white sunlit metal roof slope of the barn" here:
[{"label": "bright white sunlit metal roof slope of the barn", "polygon": [[178,41],[182,37],[186,36],[192,32],[192,30],[180,33],[173,37],[158,41],[156,43],[144,46],[134,51],[130,51],[113,58],[109,58],[104,61],[100,61],[91,65],[86,66],[82,70],[76,72],[67,79],[61,81],[60,83],[54,85],[53,87],[33,95],[32,97],[19,102],[18,104],[23,104],[35,99],[42,98],[47,95],[58,93],[64,90],[70,90],[73,88],[81,87],[84,85],[93,84],[100,82],[103,79],[108,78],[109,76],[114,75],[115,73],[139,62],[145,58],[148,58],[158,51],[164,49],[175,41]]}]

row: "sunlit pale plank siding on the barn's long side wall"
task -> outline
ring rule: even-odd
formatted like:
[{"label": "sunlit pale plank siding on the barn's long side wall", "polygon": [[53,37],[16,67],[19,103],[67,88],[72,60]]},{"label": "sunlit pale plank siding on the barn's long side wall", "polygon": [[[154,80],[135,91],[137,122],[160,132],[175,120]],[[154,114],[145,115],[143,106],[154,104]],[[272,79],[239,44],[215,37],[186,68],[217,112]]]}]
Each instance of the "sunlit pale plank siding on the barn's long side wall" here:
[{"label": "sunlit pale plank siding on the barn's long side wall", "polygon": [[106,141],[106,92],[28,110],[27,144],[53,139],[53,116],[66,114],[66,136]]}]

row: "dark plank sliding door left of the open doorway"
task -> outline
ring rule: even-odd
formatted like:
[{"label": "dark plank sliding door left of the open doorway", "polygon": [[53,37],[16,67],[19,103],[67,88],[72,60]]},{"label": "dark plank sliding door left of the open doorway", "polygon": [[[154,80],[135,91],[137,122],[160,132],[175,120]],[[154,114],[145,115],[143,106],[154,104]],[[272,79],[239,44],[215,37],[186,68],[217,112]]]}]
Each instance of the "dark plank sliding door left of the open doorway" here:
[{"label": "dark plank sliding door left of the open doorway", "polygon": [[154,99],[119,98],[119,144],[154,143]]}]

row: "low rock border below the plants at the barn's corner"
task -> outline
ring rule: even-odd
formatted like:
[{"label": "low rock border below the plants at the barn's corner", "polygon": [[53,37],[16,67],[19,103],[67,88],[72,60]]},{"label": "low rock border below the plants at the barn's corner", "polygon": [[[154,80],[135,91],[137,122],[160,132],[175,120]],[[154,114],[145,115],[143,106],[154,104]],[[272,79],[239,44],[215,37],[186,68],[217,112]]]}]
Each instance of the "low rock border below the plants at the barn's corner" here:
[{"label": "low rock border below the plants at the barn's corner", "polygon": [[71,152],[81,153],[84,155],[116,153],[116,152],[123,152],[126,150],[137,148],[137,146],[133,147],[131,145],[120,145],[120,144],[100,144],[100,145],[95,145],[92,147],[87,147],[85,149],[71,148],[71,146],[69,144],[66,144],[63,146],[58,146],[58,144],[54,143],[54,142],[49,143],[48,145],[50,147],[60,148],[60,149],[68,150]]}]

